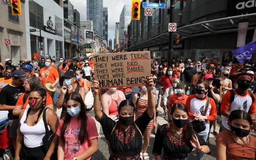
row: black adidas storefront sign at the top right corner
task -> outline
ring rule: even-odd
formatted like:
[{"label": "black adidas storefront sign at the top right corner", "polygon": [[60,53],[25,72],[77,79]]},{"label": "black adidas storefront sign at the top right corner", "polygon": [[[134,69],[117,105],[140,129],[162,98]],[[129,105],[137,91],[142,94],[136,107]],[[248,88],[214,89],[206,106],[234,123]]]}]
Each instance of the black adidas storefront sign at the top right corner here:
[{"label": "black adidas storefront sign at the top right corner", "polygon": [[242,14],[255,13],[256,0],[228,0],[227,15],[239,16]]}]

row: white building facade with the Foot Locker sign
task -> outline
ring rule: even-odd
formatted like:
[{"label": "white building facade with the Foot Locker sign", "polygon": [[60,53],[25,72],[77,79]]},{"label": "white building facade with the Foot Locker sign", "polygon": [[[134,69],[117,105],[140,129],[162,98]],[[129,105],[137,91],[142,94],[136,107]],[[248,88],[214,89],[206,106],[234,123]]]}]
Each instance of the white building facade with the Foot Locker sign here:
[{"label": "white building facade with the Foot Locker sign", "polygon": [[[26,0],[23,14],[26,16],[27,59],[37,59],[45,54],[56,59],[63,56],[63,1]],[[31,32],[31,29],[35,32]]]}]

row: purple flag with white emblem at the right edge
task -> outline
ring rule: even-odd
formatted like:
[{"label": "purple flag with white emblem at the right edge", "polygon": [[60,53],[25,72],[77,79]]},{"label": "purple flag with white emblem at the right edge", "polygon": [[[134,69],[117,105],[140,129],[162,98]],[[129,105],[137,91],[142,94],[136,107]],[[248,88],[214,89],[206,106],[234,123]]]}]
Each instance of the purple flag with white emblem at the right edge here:
[{"label": "purple flag with white emblem at the right edge", "polygon": [[252,54],[256,53],[256,41],[237,48],[232,53],[238,62],[244,63],[246,60],[251,59]]}]

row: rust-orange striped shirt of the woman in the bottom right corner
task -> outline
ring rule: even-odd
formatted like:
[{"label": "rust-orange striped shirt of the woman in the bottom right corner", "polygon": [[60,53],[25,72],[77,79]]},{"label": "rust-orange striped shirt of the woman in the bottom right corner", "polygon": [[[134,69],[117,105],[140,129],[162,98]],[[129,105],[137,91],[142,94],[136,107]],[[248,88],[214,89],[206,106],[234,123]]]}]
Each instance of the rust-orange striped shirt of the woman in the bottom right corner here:
[{"label": "rust-orange striped shirt of the woman in the bottom right corner", "polygon": [[226,147],[227,160],[255,160],[256,138],[249,135],[249,144],[238,144],[231,136],[231,131],[226,130],[217,135],[216,143]]}]

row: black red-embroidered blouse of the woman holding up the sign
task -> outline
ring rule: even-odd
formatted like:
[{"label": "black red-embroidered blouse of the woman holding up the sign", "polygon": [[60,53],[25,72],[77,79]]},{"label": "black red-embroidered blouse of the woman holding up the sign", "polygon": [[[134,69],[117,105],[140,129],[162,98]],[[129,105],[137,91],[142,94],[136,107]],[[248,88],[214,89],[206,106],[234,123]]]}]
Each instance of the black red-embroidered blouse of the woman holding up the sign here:
[{"label": "black red-embroidered blouse of the woman holding up the sign", "polygon": [[116,123],[103,113],[99,123],[101,123],[106,139],[109,140],[112,151],[109,160],[140,160],[142,133],[144,133],[151,119],[153,118],[149,117],[147,111],[145,111],[125,132],[118,121]]}]

